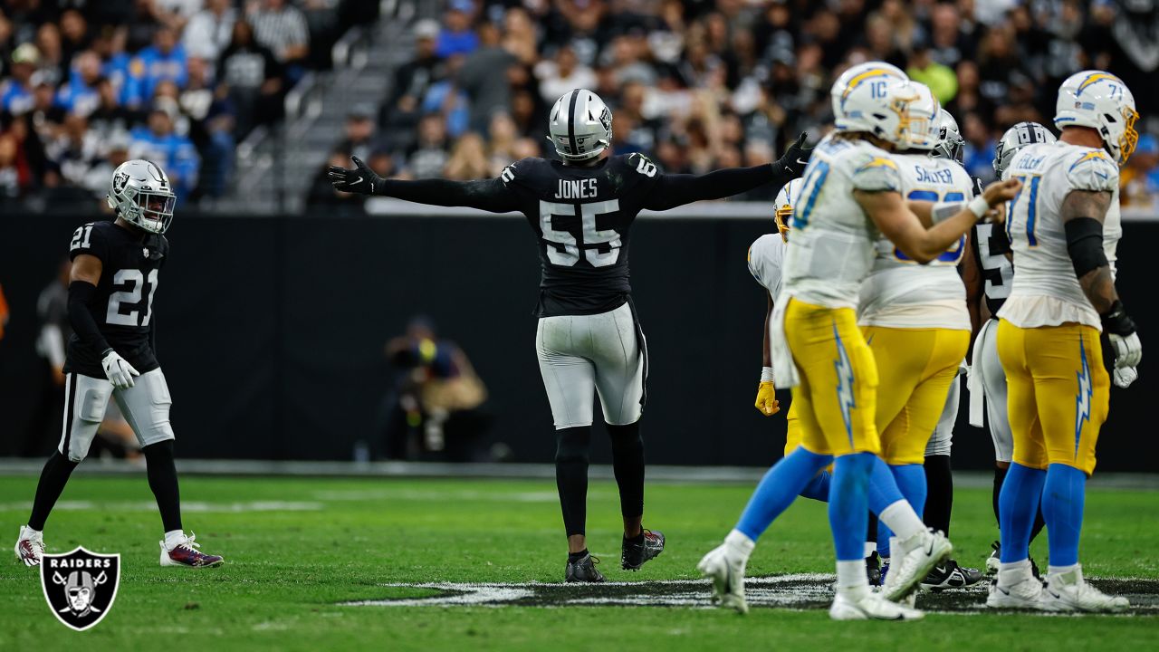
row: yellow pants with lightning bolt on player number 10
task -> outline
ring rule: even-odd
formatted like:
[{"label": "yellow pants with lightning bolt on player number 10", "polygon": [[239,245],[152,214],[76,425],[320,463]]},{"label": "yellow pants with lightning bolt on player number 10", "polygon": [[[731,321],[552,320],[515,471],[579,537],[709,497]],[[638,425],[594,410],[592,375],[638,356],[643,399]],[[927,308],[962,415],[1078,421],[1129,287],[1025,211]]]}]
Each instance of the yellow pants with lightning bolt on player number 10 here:
[{"label": "yellow pants with lightning bolt on player number 10", "polygon": [[853,309],[790,298],[785,338],[801,376],[790,408],[801,445],[818,455],[877,454],[877,367]]}]

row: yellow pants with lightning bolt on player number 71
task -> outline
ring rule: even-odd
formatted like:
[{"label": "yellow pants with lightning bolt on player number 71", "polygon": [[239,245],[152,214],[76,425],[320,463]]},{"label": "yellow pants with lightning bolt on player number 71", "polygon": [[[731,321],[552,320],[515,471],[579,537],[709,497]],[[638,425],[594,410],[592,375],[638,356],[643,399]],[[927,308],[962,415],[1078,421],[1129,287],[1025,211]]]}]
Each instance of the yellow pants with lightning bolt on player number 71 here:
[{"label": "yellow pants with lightning bolt on player number 71", "polygon": [[1110,376],[1099,331],[1083,324],[1019,328],[998,323],[1014,462],[1094,471],[1099,428],[1110,407]]}]

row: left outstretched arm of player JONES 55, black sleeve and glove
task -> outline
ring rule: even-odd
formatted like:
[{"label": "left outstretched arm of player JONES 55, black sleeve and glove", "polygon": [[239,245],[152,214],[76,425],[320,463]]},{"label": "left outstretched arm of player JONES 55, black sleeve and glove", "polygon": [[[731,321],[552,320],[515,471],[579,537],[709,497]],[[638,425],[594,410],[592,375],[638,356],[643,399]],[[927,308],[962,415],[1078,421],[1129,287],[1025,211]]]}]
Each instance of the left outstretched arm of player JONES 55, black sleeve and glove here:
[{"label": "left outstretched arm of player JONES 55, black sleeve and glove", "polygon": [[479,181],[449,181],[446,179],[421,179],[400,181],[382,179],[358,157],[353,169],[330,166],[327,176],[335,190],[359,195],[382,195],[436,207],[468,207],[490,212],[519,210],[516,195],[498,179]]}]

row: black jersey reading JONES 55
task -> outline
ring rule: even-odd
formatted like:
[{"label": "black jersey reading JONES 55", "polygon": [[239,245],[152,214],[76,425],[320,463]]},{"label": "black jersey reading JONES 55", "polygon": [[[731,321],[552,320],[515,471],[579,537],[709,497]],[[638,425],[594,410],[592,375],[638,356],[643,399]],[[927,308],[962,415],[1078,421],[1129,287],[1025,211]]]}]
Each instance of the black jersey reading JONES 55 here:
[{"label": "black jersey reading JONES 55", "polygon": [[523,159],[503,171],[539,238],[539,317],[597,314],[628,299],[629,231],[657,178],[640,154],[591,167]]}]

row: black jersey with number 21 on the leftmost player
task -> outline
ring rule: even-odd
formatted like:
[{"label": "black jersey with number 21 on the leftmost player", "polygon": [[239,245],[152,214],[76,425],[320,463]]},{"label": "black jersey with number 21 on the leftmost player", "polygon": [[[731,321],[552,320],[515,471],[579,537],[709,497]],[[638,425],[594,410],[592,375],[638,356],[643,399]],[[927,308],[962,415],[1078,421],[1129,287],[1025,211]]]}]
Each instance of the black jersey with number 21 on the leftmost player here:
[{"label": "black jersey with number 21 on the leftmost player", "polygon": [[[73,233],[68,256],[75,260],[81,254],[96,256],[102,265],[101,281],[88,304],[101,334],[141,374],[156,369],[150,329],[158,274],[169,255],[169,241],[165,236],[131,231],[112,222],[94,222]],[[101,352],[73,334],[65,371],[103,378]]]}]

